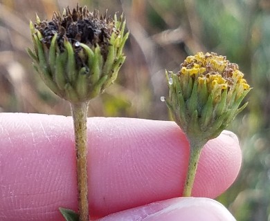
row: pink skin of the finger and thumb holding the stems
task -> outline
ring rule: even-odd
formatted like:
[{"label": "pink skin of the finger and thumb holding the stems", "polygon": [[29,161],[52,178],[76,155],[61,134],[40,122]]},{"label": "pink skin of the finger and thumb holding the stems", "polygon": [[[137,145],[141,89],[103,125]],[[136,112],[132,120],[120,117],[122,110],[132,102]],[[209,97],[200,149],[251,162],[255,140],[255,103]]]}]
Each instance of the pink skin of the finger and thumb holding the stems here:
[{"label": "pink skin of the finger and thumb holding the stems", "polygon": [[[116,213],[117,219],[101,220],[136,220],[141,214],[142,220],[172,221],[177,219],[161,211],[174,206],[178,209],[173,214],[180,220],[192,220],[185,215],[195,211],[206,220],[219,220],[219,213],[228,215],[220,220],[233,220],[224,207],[206,199],[226,191],[240,170],[241,151],[233,133],[224,131],[201,153],[192,190],[192,196],[201,198],[177,198],[183,191],[189,150],[174,122],[92,117],[88,142],[94,217],[156,202]],[[183,206],[187,204],[195,206]],[[71,117],[1,113],[0,220],[63,220],[60,206],[78,206]],[[156,213],[154,219],[147,215]]]}]

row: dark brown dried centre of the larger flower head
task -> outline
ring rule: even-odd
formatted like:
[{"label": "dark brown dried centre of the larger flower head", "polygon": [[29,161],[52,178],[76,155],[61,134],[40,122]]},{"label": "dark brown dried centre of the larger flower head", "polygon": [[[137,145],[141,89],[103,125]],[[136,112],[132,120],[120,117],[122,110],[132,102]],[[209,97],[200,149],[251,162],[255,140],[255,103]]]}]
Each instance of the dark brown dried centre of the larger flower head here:
[{"label": "dark brown dried centre of the larger flower head", "polygon": [[105,60],[111,34],[117,32],[114,20],[107,18],[106,13],[103,16],[99,15],[98,10],[89,12],[86,6],[77,6],[73,10],[66,7],[62,15],[60,12],[54,12],[51,21],[37,22],[35,29],[42,34],[42,43],[47,48],[50,48],[51,40],[57,34],[57,45],[61,52],[64,51],[64,39],[67,39],[75,52],[82,50],[76,42],[86,44],[92,50],[97,45],[100,46]]}]

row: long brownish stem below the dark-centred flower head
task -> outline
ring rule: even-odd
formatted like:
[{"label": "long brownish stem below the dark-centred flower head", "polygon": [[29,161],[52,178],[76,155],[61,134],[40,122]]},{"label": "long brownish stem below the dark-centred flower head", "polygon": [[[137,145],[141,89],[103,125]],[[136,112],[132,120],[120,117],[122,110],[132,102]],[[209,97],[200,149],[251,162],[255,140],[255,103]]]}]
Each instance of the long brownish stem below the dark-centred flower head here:
[{"label": "long brownish stem below the dark-centred flower head", "polygon": [[87,111],[89,102],[71,104],[75,133],[78,210],[80,221],[89,221],[87,184]]}]

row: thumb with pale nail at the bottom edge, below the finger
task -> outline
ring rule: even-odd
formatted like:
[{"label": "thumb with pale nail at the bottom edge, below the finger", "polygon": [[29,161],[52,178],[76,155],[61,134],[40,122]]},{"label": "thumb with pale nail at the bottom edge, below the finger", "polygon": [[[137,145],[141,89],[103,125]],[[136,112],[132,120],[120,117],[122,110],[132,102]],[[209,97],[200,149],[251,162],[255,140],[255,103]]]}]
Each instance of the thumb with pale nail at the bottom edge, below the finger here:
[{"label": "thumb with pale nail at the bottom edge, below the finger", "polygon": [[209,198],[173,198],[107,215],[98,221],[235,221],[219,202]]}]

